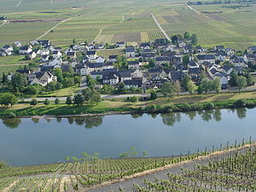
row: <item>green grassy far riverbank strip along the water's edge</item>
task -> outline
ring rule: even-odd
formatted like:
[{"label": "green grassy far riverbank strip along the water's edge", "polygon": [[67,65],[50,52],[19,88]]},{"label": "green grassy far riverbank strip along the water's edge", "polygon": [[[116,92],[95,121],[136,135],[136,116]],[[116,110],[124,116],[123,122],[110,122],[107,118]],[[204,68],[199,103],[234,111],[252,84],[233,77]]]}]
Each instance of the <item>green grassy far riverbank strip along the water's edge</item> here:
[{"label": "green grassy far riverbank strip along the water's edge", "polygon": [[[194,96],[196,97],[196,96]],[[193,97],[191,97],[193,98]],[[156,105],[156,104],[158,105]],[[19,106],[20,105],[20,106]],[[0,111],[0,118],[69,118],[82,116],[102,116],[114,114],[152,114],[187,112],[195,110],[230,109],[237,107],[255,107],[256,98],[222,100],[214,102],[180,102],[174,103],[174,99],[159,98],[149,102],[101,102],[98,105],[68,106],[66,104],[50,104],[45,106],[42,103],[38,106],[28,106],[22,103]]]}]

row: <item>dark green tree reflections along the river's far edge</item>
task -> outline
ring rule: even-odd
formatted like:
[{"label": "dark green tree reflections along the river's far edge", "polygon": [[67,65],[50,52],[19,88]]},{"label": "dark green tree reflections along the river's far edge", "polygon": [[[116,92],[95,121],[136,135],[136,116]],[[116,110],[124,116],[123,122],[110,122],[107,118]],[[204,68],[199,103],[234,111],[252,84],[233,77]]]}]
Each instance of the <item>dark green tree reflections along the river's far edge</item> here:
[{"label": "dark green tree reflections along the river's far edge", "polygon": [[[227,110],[229,113],[237,114],[238,118],[246,118],[246,108],[238,108],[238,109],[229,109]],[[194,121],[194,119],[199,116],[205,122],[210,122],[214,120],[216,122],[222,121],[222,110],[200,110],[200,111],[190,111],[186,113],[169,113],[169,114],[160,114],[162,118],[162,122],[166,126],[174,126],[176,122],[181,122],[182,114],[185,114],[190,121]],[[132,118],[141,118],[143,114],[131,114]],[[157,118],[159,114],[149,114],[151,118]],[[184,115],[183,115],[184,118]],[[38,123],[40,118],[31,118],[34,123]],[[52,118],[45,118],[46,122],[50,122]],[[55,118],[57,122],[62,122],[62,118]],[[70,117],[65,118],[69,122],[70,125],[76,124],[78,126],[85,126],[86,129],[91,129],[94,127],[98,127],[102,125],[103,116],[84,116],[84,117]],[[22,122],[20,118],[3,118],[2,123],[11,129],[18,128],[19,124]]]}]

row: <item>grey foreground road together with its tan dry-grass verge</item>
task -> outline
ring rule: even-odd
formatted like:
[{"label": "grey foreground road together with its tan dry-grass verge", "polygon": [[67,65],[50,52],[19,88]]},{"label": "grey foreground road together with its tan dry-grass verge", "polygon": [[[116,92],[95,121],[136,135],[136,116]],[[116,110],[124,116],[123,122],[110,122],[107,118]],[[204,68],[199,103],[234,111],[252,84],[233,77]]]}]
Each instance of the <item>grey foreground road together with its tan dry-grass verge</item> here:
[{"label": "grey foreground road together with its tan dry-grass verge", "polygon": [[173,165],[168,165],[165,167],[161,167],[156,170],[148,170],[140,174],[134,174],[133,176],[127,177],[123,179],[122,181],[113,181],[113,182],[105,182],[102,183],[100,186],[95,186],[94,188],[91,188],[90,190],[83,190],[83,191],[90,191],[90,192],[119,192],[120,187],[122,187],[123,190],[126,192],[128,191],[134,191],[134,184],[137,184],[139,186],[143,186],[143,182],[145,179],[150,180],[154,182],[154,178],[161,178],[161,179],[168,179],[167,174],[182,174],[182,169],[187,170],[193,170],[195,165],[207,165],[209,162],[214,162],[218,160],[222,160],[224,158],[227,158],[229,155],[233,155],[235,152],[238,153],[244,153],[246,150],[248,150],[250,147],[254,147],[255,149],[255,143],[253,145],[246,145],[239,149],[230,149],[226,151],[218,151],[214,154],[210,154],[204,157],[199,157],[194,160],[189,160]]}]

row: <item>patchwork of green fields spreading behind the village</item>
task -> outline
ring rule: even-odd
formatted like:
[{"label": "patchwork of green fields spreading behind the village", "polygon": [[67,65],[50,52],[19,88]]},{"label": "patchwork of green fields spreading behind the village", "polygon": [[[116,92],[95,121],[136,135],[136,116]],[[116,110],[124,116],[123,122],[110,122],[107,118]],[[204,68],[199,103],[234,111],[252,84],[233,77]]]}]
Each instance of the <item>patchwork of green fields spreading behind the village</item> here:
[{"label": "patchwork of green fields spreading behind the village", "polygon": [[[68,20],[42,38],[60,46],[70,44],[73,38],[78,42],[92,42],[97,37],[96,42],[108,43],[147,42],[163,38],[150,14],[156,16],[169,35],[185,31],[198,34],[201,46],[224,44],[244,50],[247,46],[256,45],[255,4],[239,9],[223,8],[223,4],[192,6],[194,10],[190,10],[186,1],[177,0],[22,0],[19,6],[18,2],[0,0],[0,14],[6,14],[9,20],[19,20],[18,23],[1,26],[0,45],[14,41],[30,42],[65,19]],[[222,13],[205,14],[202,11]],[[24,22],[24,19],[37,22]]]}]

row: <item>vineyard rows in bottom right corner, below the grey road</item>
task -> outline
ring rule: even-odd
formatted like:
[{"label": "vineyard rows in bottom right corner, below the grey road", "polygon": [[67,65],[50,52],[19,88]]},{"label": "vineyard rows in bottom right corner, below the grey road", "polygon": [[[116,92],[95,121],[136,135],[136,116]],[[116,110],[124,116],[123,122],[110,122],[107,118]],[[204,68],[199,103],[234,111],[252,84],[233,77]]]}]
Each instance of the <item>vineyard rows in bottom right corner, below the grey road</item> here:
[{"label": "vineyard rows in bottom right corner, below the grey road", "polygon": [[182,175],[168,174],[168,179],[144,180],[145,186],[134,185],[134,192],[150,191],[255,191],[256,150],[230,155],[222,161],[183,170]]}]

